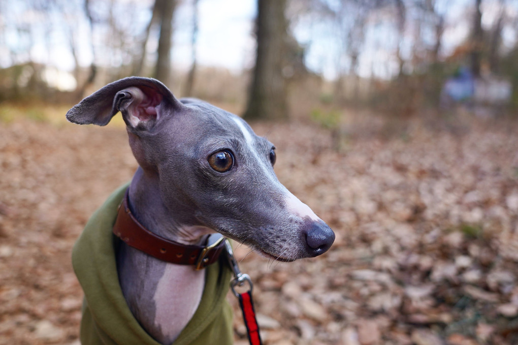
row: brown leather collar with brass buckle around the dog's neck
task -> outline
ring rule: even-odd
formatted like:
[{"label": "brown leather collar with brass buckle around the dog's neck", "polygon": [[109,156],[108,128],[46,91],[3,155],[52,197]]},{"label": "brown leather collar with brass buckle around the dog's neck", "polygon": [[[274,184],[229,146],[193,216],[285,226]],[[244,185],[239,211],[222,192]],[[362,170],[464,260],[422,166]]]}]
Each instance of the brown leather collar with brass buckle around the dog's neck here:
[{"label": "brown leather collar with brass buckle around the dog's neck", "polygon": [[195,265],[202,269],[218,261],[221,251],[225,248],[224,237],[206,246],[183,245],[153,234],[140,224],[128,207],[128,191],[119,206],[117,220],[113,225],[113,234],[126,245],[136,248],[159,260],[179,265]]}]

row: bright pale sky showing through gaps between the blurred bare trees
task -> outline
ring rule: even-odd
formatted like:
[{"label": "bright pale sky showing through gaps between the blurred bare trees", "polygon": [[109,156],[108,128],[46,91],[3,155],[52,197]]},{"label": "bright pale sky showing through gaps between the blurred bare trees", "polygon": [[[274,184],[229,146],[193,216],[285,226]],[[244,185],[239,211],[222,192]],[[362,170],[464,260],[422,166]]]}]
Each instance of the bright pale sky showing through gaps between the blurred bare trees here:
[{"label": "bright pale sky showing through gaps between the blurred bare trees", "polygon": [[[67,26],[75,25],[78,31],[80,44],[78,45],[78,62],[82,66],[88,66],[92,60],[92,52],[89,45],[89,27],[87,21],[74,17],[74,6],[82,6],[82,0],[70,0],[63,2],[70,6],[68,15],[62,13],[50,13],[53,21],[60,23],[62,27],[49,33],[46,31],[45,18],[37,11],[31,10],[31,1],[7,2],[0,1],[0,30],[6,24],[7,16],[15,16],[19,23],[36,25],[35,37],[24,35],[20,30],[6,30],[0,38],[0,67],[7,67],[12,63],[6,45],[16,47],[20,56],[54,65],[54,74],[62,70],[73,70],[74,59],[69,52],[69,35]],[[192,30],[192,0],[184,0],[177,8],[175,14],[175,31],[173,39],[172,64],[175,68],[189,68],[191,63],[191,30]],[[244,69],[253,67],[255,54],[255,39],[253,36],[254,18],[256,16],[256,0],[199,0],[199,31],[197,43],[197,59],[199,65],[218,66],[227,68],[234,73],[240,73]],[[332,0],[329,0],[332,1]],[[127,6],[131,0],[118,0],[116,4]],[[496,4],[499,0],[484,0],[483,25],[490,27],[498,13]],[[107,11],[105,2],[95,1],[94,15],[102,16]],[[446,15],[446,29],[443,35],[443,54],[447,55],[461,44],[469,33],[469,9],[474,0],[437,0],[439,11],[444,10]],[[138,36],[142,28],[149,22],[152,0],[132,2],[134,5],[134,22],[116,17],[124,30]],[[516,15],[516,2],[509,6],[511,16]],[[448,5],[448,7],[446,7]],[[441,9],[442,8],[442,9]],[[445,10],[447,8],[447,11]],[[380,18],[377,18],[380,17]],[[412,23],[408,23],[408,30],[404,38],[398,42],[395,40],[395,25],[381,15],[373,15],[365,32],[365,43],[362,54],[359,57],[358,74],[362,77],[390,78],[397,70],[394,51],[399,44],[402,54],[410,56],[412,52]],[[39,26],[38,26],[39,25]],[[22,25],[23,26],[23,25]],[[60,25],[58,25],[60,26]],[[333,79],[337,75],[340,43],[336,40],[336,27],[329,21],[315,20],[312,17],[300,17],[294,26],[294,35],[301,45],[307,47],[306,64],[327,79]],[[121,49],[120,54],[103,54],[103,40],[110,39],[106,32],[97,31],[94,37],[97,43],[96,54],[103,56],[105,65],[118,66],[130,59]],[[515,31],[504,31],[505,44],[512,45],[516,39]],[[151,40],[148,52],[156,51],[156,40]],[[25,47],[32,46],[30,51],[24,52]],[[52,47],[48,50],[48,47]],[[126,55],[126,56],[125,56]],[[347,59],[342,61],[347,66]],[[63,74],[64,76],[66,74]],[[55,75],[49,78],[56,78]]]}]

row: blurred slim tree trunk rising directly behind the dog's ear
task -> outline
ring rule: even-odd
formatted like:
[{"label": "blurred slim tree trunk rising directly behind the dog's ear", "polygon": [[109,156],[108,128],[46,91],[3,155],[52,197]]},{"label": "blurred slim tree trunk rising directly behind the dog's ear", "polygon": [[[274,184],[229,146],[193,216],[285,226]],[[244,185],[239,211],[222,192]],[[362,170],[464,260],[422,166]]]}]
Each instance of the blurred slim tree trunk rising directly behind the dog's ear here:
[{"label": "blurred slim tree trunk rising directly behind the dog's ear", "polygon": [[155,0],[160,2],[160,37],[158,56],[154,78],[162,81],[167,87],[171,86],[171,40],[172,17],[175,12],[175,0]]}]

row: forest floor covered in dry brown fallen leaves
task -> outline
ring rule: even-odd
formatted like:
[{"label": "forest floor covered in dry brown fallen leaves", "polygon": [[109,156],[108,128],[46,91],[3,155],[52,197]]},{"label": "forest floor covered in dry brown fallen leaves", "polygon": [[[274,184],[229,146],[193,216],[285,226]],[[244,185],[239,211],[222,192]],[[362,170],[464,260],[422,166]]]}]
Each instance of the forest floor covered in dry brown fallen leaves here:
[{"label": "forest floor covered in dry brown fallen leaves", "polygon": [[[71,248],[136,163],[120,123],[15,110],[0,111],[0,344],[78,344]],[[518,123],[252,126],[275,143],[279,180],[336,233],[294,263],[238,247],[266,345],[518,343]]]}]

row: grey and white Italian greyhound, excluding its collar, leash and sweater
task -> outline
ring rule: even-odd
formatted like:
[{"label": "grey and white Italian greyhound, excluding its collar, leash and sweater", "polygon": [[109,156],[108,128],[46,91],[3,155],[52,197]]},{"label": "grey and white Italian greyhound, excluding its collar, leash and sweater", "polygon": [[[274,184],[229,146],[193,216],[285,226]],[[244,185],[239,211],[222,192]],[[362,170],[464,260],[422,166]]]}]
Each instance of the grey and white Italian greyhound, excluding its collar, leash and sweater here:
[{"label": "grey and white Italian greyhound, excluding its collar, leash and sweater", "polygon": [[[160,81],[130,77],[84,98],[67,119],[104,126],[119,111],[139,165],[128,198],[149,231],[186,245],[220,233],[284,262],[332,245],[329,226],[277,179],[274,145],[238,116],[201,100],[178,100]],[[204,270],[125,243],[117,268],[142,327],[163,344],[174,341],[198,307]]]}]

